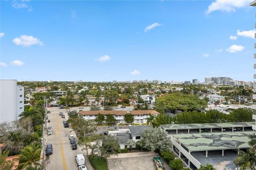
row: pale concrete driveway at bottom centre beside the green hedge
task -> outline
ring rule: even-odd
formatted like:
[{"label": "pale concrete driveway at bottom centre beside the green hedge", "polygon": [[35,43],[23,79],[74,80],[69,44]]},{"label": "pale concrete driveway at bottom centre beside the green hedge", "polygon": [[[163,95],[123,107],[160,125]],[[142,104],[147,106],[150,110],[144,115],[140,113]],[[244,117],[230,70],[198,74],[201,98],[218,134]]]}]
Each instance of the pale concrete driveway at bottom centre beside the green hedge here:
[{"label": "pale concrete driveway at bottom centre beside the green hedge", "polygon": [[153,157],[159,156],[155,152],[133,152],[111,155],[108,158],[110,170],[155,170]]}]

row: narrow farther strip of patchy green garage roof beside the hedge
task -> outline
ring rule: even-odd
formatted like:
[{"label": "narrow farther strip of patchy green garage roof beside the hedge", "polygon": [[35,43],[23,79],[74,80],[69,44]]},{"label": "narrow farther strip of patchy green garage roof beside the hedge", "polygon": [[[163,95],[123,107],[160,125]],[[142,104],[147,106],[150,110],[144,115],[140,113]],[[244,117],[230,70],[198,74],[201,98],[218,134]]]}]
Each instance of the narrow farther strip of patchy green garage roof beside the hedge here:
[{"label": "narrow farther strip of patchy green garage roof beside the hedge", "polygon": [[210,129],[210,128],[238,128],[251,127],[254,122],[233,122],[233,123],[193,123],[193,124],[165,124],[161,125],[164,130],[181,129]]}]

